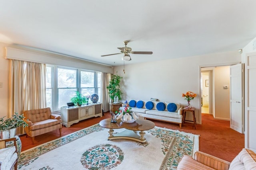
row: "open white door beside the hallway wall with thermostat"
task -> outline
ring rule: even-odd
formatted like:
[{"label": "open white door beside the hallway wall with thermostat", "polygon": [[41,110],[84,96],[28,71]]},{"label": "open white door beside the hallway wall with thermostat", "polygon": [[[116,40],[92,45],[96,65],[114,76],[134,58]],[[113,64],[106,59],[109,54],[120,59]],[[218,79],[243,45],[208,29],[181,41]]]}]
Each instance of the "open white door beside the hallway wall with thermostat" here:
[{"label": "open white door beside the hallway wall with thermostat", "polygon": [[240,133],[244,133],[243,75],[243,64],[230,66],[230,128]]}]

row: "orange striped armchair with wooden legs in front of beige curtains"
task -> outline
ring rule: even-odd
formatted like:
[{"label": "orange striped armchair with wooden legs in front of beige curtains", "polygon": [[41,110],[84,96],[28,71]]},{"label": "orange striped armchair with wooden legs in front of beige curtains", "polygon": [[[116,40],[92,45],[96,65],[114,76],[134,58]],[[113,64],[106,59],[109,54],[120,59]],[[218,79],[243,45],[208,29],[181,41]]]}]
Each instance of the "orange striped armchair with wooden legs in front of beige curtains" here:
[{"label": "orange striped armchair with wooden legs in front of beige curtains", "polygon": [[25,127],[27,136],[32,137],[34,144],[35,136],[48,133],[59,129],[61,135],[62,119],[60,115],[53,115],[50,107],[44,109],[26,110],[24,111],[24,121],[28,123]]}]

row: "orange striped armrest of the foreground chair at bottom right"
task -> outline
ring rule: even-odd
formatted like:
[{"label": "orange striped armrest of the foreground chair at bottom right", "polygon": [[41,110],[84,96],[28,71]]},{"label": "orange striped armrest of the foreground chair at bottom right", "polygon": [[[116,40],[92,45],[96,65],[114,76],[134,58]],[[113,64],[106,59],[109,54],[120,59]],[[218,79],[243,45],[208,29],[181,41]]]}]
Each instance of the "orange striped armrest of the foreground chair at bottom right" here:
[{"label": "orange striped armrest of the foreground chair at bottom right", "polygon": [[195,152],[194,160],[218,170],[228,170],[230,166],[230,162],[200,151]]}]

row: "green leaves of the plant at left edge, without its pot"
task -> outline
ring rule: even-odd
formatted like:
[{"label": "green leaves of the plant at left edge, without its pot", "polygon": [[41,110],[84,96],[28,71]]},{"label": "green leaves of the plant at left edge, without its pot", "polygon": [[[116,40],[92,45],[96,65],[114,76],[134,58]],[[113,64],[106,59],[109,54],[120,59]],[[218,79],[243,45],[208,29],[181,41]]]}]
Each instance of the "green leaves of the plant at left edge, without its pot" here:
[{"label": "green leaves of the plant at left edge, without its pot", "polygon": [[6,131],[8,129],[14,129],[16,127],[26,127],[28,124],[23,120],[24,116],[14,112],[11,118],[4,120],[4,117],[0,118],[0,131]]}]

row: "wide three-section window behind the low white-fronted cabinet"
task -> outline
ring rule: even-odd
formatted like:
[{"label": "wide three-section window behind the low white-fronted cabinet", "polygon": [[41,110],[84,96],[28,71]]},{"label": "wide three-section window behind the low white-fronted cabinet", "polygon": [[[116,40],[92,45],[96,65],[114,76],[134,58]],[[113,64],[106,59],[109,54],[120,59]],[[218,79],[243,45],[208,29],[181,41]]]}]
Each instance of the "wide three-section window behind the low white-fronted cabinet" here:
[{"label": "wide three-section window behind the low white-fronted cabinet", "polygon": [[47,107],[50,107],[52,111],[60,110],[60,107],[70,102],[75,91],[81,92],[84,96],[96,93],[100,97],[100,83],[101,72],[47,65]]}]

